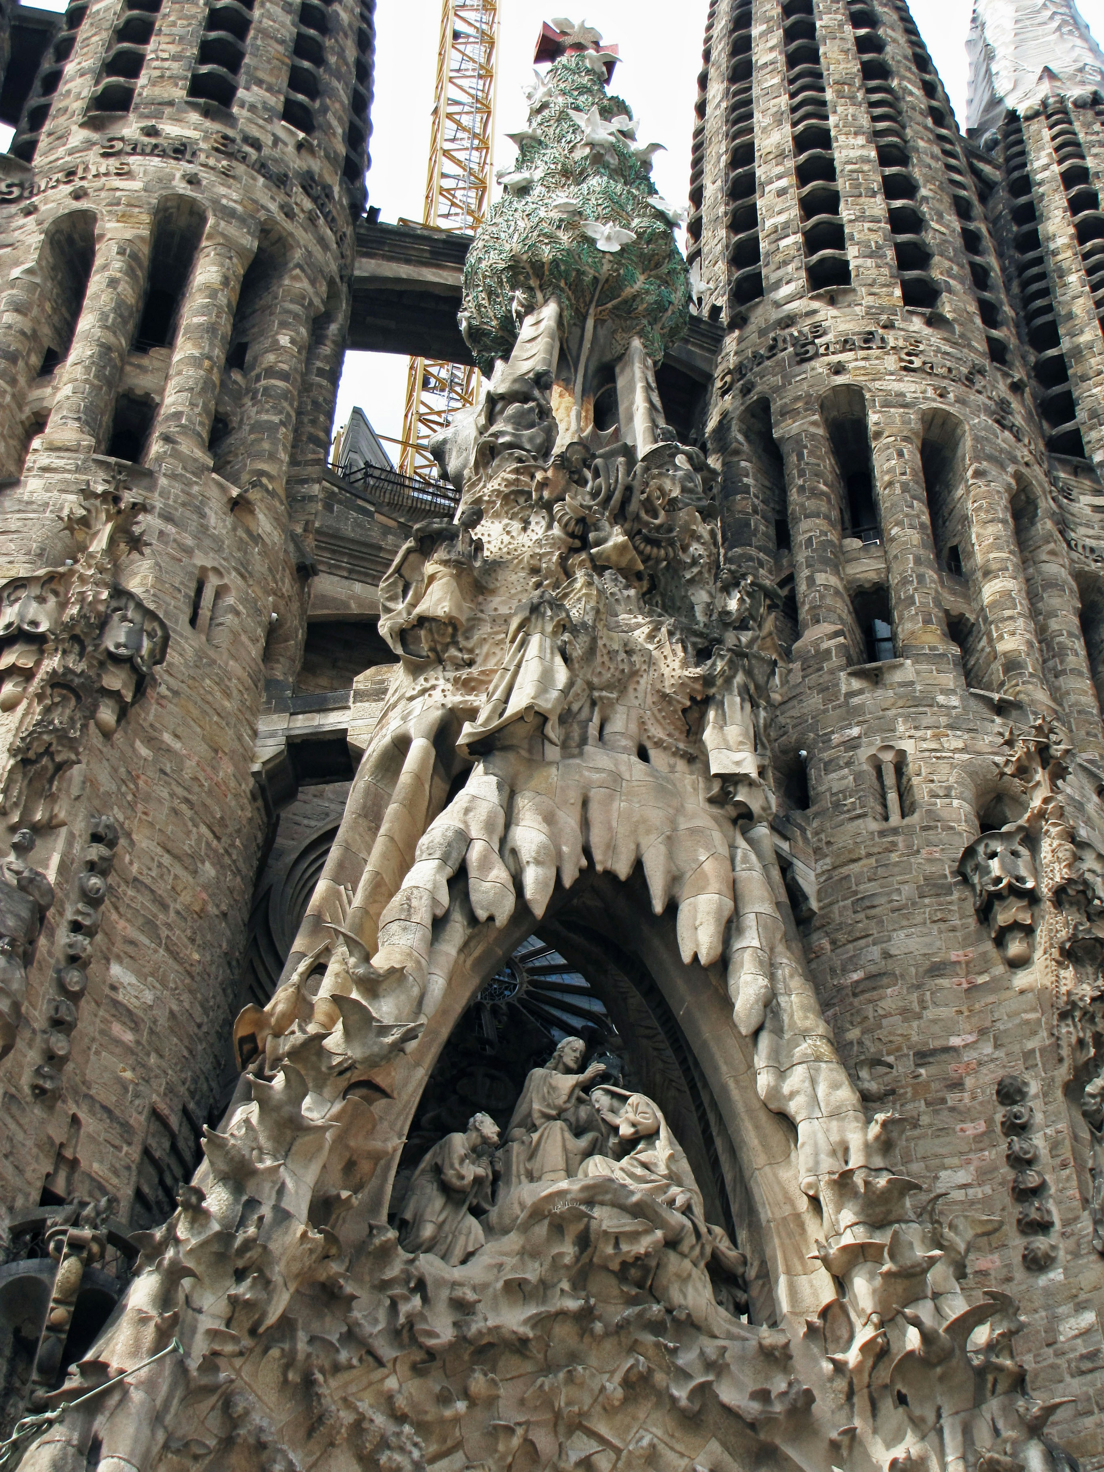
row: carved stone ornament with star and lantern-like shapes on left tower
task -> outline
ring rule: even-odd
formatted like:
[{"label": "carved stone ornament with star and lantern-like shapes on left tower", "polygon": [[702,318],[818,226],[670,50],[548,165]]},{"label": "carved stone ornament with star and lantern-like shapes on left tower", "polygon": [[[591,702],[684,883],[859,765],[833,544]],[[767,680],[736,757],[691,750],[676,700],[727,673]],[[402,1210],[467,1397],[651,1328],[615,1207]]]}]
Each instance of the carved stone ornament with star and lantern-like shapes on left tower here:
[{"label": "carved stone ornament with star and lantern-like shapes on left tower", "polygon": [[165,659],[165,624],[113,577],[127,552],[141,552],[134,523],[143,511],[119,481],[87,484],[66,517],[79,556],[0,584],[0,810],[9,824],[65,821],[59,783],[81,760],[88,721],[110,736]]}]

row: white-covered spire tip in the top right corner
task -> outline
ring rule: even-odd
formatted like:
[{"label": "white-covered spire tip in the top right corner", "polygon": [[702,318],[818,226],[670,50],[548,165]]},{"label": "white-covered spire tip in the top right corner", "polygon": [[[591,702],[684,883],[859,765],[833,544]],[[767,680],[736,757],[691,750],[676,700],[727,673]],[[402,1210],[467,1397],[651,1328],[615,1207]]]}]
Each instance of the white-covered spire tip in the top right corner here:
[{"label": "white-covered spire tip in the top right corner", "polygon": [[1050,91],[1080,91],[1104,81],[1104,52],[1075,0],[974,0],[966,125],[997,127]]}]

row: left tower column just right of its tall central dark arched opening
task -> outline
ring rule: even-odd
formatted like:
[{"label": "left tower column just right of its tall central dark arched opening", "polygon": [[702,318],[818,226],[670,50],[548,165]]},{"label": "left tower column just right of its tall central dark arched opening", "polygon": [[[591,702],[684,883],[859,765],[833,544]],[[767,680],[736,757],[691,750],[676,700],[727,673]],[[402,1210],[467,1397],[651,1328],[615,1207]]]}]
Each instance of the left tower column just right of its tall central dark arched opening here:
[{"label": "left tower column just right of its tall central dark arched opening", "polygon": [[[212,230],[196,255],[156,436],[206,450],[241,278],[255,246]],[[156,443],[156,437],[155,437]]]}]

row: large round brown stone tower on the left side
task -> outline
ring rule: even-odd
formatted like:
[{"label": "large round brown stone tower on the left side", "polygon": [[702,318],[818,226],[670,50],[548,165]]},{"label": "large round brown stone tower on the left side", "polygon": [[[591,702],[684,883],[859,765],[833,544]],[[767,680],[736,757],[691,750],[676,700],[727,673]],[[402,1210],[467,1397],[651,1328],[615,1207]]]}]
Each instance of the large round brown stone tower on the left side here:
[{"label": "large round brown stone tower on the left side", "polygon": [[9,1203],[156,1201],[215,1097],[372,44],[371,0],[74,0],[0,160]]}]

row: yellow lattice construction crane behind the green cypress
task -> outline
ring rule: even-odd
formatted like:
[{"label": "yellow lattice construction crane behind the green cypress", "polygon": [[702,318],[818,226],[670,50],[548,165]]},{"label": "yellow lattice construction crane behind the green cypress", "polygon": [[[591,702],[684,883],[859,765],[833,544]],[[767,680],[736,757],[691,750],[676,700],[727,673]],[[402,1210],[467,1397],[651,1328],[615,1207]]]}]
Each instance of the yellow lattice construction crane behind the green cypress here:
[{"label": "yellow lattice construction crane behind the green cypress", "polygon": [[[499,0],[443,0],[424,225],[474,231],[490,203],[495,52]],[[399,470],[430,475],[430,437],[475,402],[478,374],[464,364],[412,358]]]}]

